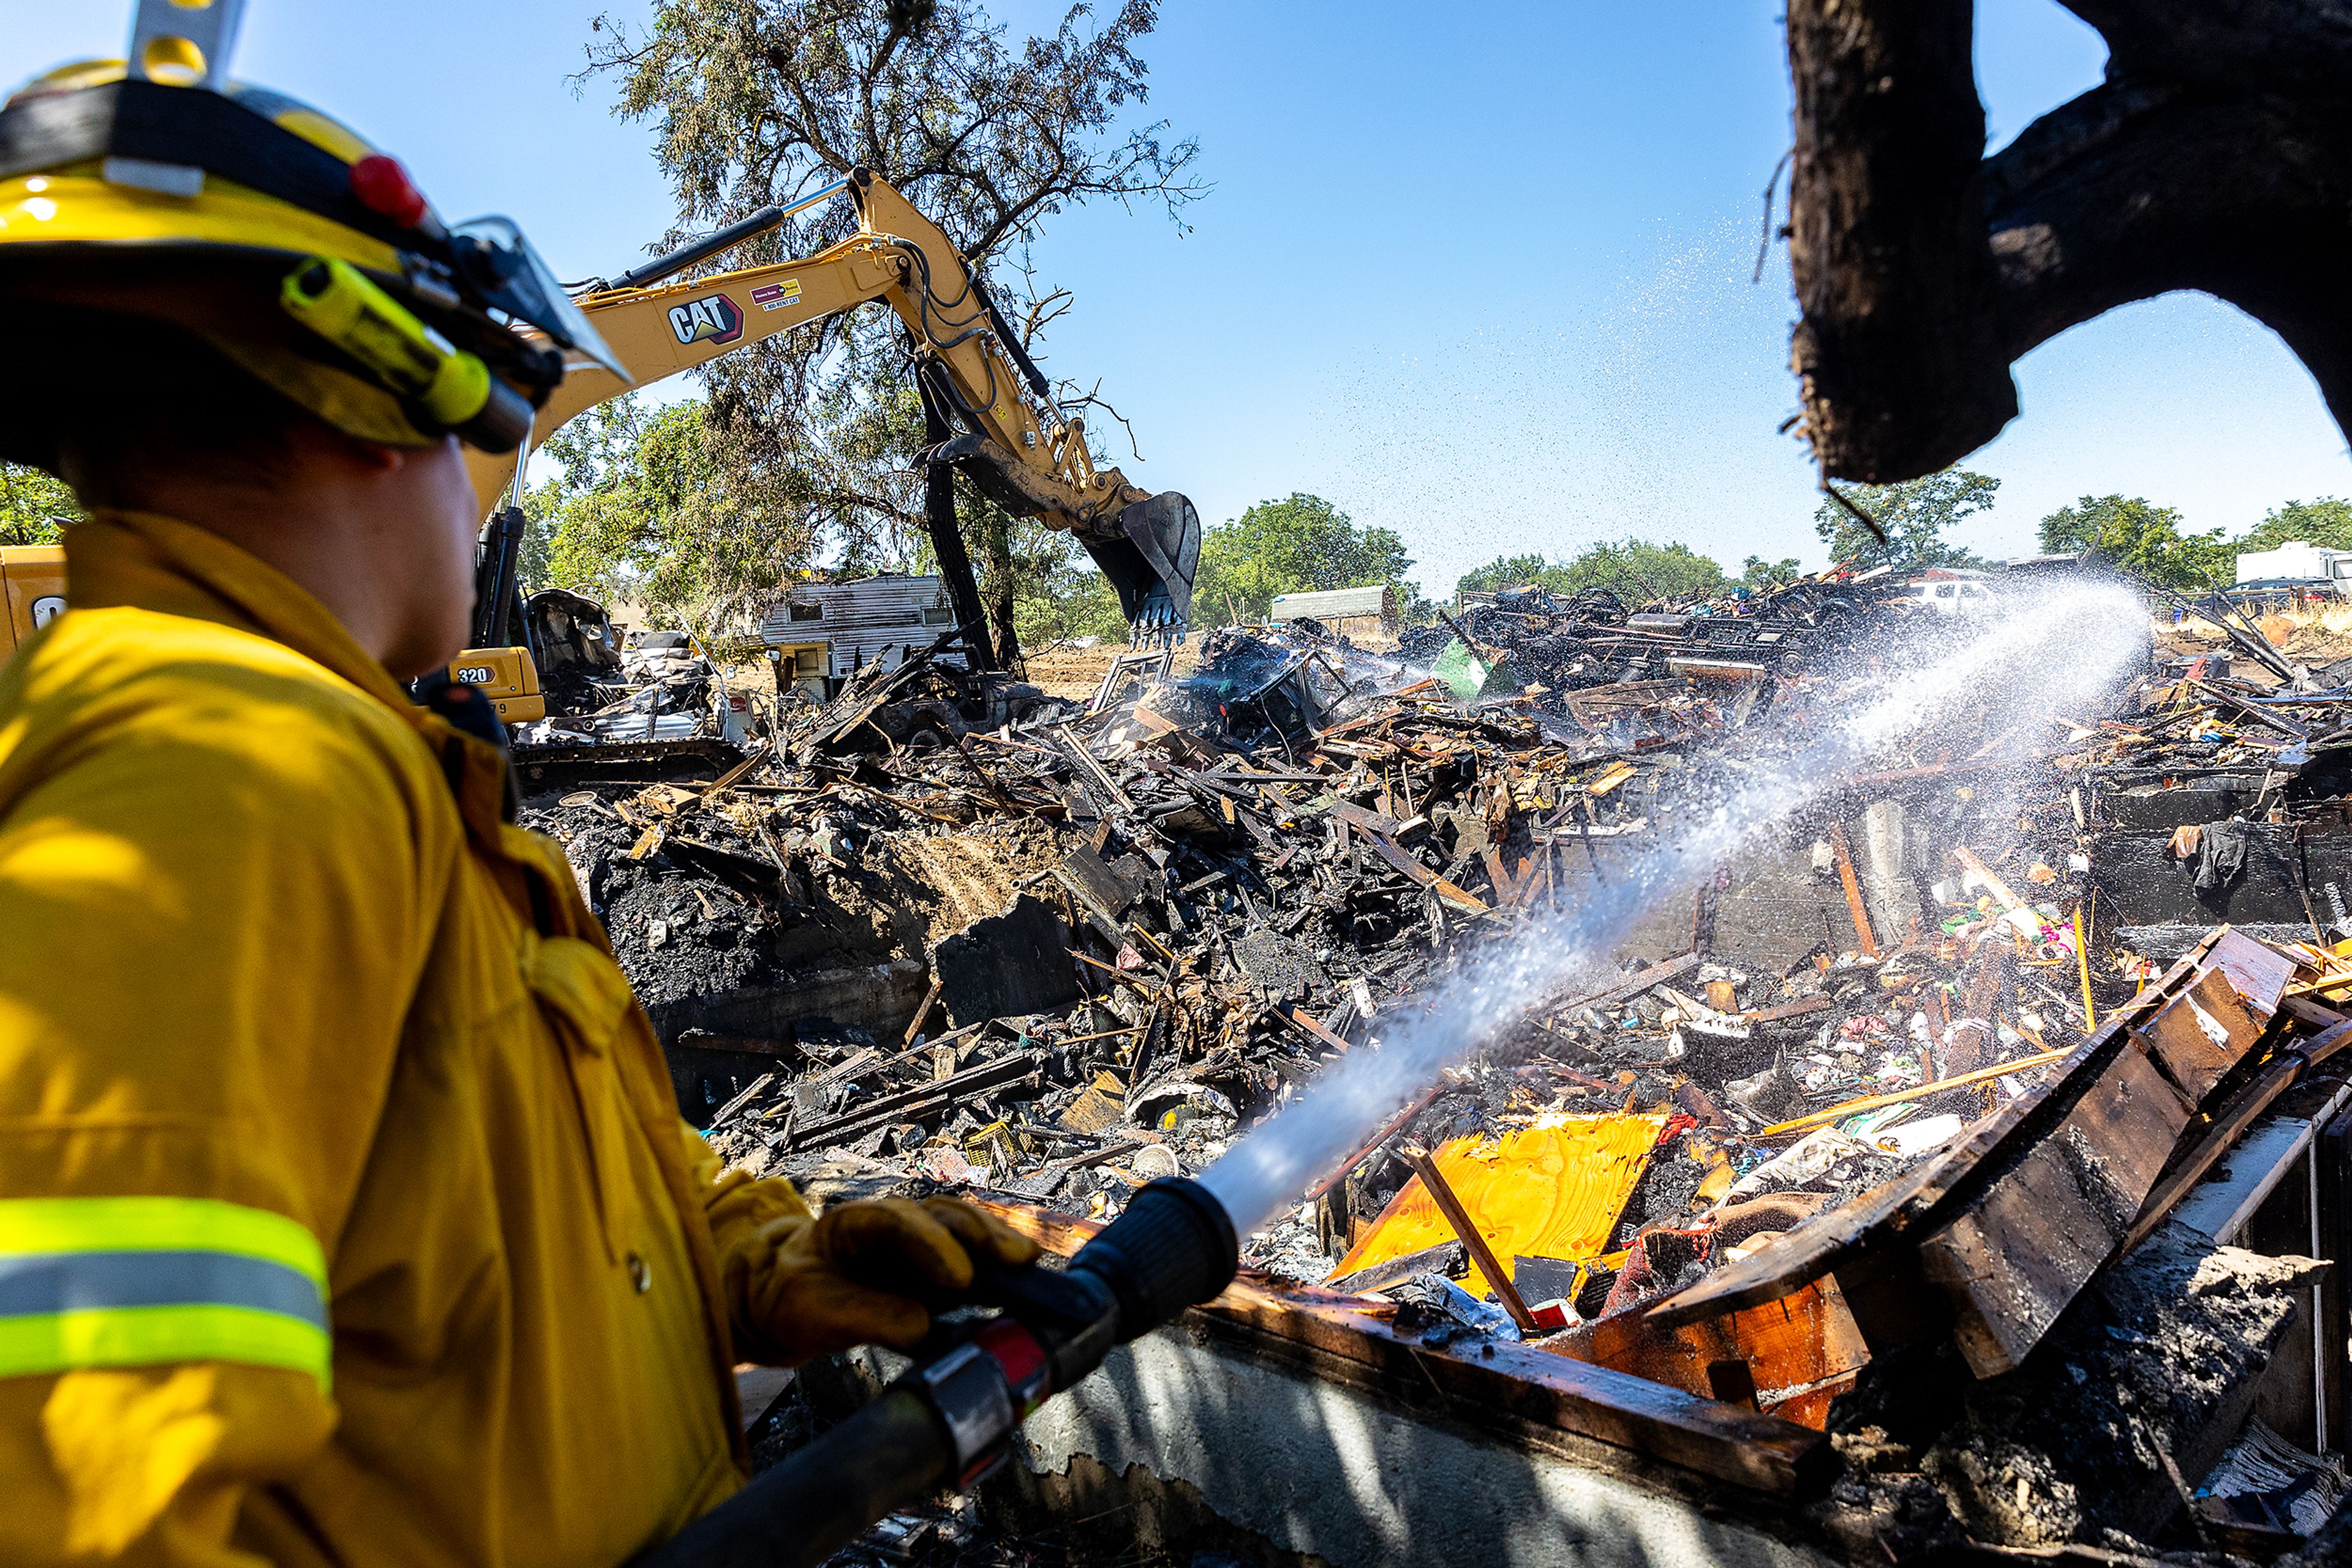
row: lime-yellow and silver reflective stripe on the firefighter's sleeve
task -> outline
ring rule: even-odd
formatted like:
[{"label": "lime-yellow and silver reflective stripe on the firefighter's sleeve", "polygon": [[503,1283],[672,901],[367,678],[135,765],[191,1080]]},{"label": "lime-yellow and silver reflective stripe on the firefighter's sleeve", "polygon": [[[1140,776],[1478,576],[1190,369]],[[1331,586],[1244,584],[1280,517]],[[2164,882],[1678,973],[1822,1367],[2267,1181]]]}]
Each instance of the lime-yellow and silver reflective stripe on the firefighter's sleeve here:
[{"label": "lime-yellow and silver reflective stripe on the firefighter's sleeve", "polygon": [[327,1387],[327,1260],[219,1199],[0,1199],[0,1378],[245,1361]]}]

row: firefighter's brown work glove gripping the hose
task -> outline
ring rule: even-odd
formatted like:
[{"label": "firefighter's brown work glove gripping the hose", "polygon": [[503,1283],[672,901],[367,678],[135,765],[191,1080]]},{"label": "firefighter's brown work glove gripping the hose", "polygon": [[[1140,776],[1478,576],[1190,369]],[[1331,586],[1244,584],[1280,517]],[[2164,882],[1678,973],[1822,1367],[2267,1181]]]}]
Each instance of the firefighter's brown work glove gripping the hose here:
[{"label": "firefighter's brown work glove gripping the hose", "polygon": [[750,1328],[786,1366],[851,1345],[915,1349],[931,1312],[969,1300],[971,1262],[1028,1262],[1037,1244],[957,1199],[866,1199],[774,1220],[746,1291]]}]

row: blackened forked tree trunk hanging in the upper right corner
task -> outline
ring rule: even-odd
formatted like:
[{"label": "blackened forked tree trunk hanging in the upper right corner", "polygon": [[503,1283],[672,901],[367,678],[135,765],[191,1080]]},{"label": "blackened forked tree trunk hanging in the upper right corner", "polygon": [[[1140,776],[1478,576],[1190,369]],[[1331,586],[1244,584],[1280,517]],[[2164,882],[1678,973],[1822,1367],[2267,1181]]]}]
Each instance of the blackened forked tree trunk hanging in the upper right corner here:
[{"label": "blackened forked tree trunk hanging in the upper right corner", "polygon": [[2352,433],[2352,0],[2065,5],[2107,80],[1978,162],[1969,0],[1790,0],[1795,369],[1828,477],[1945,468],[2016,414],[2013,360],[2171,289],[2265,322]]}]

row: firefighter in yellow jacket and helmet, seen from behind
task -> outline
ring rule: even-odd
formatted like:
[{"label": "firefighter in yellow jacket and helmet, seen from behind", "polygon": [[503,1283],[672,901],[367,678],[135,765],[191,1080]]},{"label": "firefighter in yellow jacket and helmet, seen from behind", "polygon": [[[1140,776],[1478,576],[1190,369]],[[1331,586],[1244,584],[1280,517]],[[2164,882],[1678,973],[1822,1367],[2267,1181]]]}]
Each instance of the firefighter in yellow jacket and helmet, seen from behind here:
[{"label": "firefighter in yellow jacket and helmet, seen from behind", "polygon": [[0,670],[0,1561],[619,1563],[746,1479],[736,1359],[1033,1255],[722,1173],[494,722],[405,696],[461,442],[607,353],[513,226],[80,66],[0,110],[0,303],[87,510]]}]

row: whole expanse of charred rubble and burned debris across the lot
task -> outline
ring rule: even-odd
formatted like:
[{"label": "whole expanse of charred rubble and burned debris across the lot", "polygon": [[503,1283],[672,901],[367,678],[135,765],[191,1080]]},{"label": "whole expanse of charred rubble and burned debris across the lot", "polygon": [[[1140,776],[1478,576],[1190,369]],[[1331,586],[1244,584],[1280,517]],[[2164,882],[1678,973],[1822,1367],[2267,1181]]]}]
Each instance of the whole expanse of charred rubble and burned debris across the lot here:
[{"label": "whole expanse of charred rubble and burned debris across the lot", "polygon": [[[1468,701],[1428,663],[1291,625],[1214,635],[1181,679],[1138,661],[1145,677],[1105,679],[1091,710],[1021,696],[981,724],[953,691],[924,693],[913,656],[821,712],[779,715],[741,766],[539,795],[524,820],[564,842],[682,1105],[729,1161],[818,1192],[948,1187],[1098,1220],[1145,1180],[1209,1166],[1329,1063],[1376,1051],[1383,1020],[1423,1006],[1482,943],[1573,905],[1679,813],[1710,809],[1696,764],[1757,745],[1766,705],[1785,745],[1867,693],[1872,658],[1823,658],[1825,635],[1903,607],[1856,604],[1839,583],[1766,599],[1757,628],[1813,625],[1738,682],[1689,661],[1670,672],[1665,642],[1609,614],[1590,597],[1472,611],[1439,658],[1501,646],[1503,616],[1541,628],[1517,628],[1512,658]],[[1745,646],[1762,665],[1755,649],[1773,644]],[[1609,684],[1573,684],[1595,656],[1621,661]],[[1338,1293],[1317,1300],[1430,1352],[1522,1340],[1828,1427],[1860,1453],[1879,1439],[1832,1410],[1900,1361],[1879,1354],[1875,1319],[1858,1326],[1877,1309],[1839,1288],[1853,1248],[1891,1225],[1933,1229],[1907,1215],[1955,1204],[1983,1232],[2011,1190],[2046,1204],[2037,1150],[2089,1135],[2114,1213],[2065,1222],[2079,1255],[2058,1248],[2044,1298],[1971,1307],[1938,1274],[1978,1267],[1966,1225],[1919,1253],[1922,1288],[1959,1291],[1957,1342],[1978,1375],[2046,1335],[2072,1342],[2063,1324],[2091,1312],[2082,1291],[2136,1241],[2143,1199],[2187,1145],[2187,1107],[2277,1060],[2253,1046],[2272,1039],[2272,1011],[2288,1018],[2288,976],[2310,1016],[2352,994],[2352,959],[2317,922],[2300,945],[2234,938],[2216,957],[2211,938],[2183,943],[2171,969],[2122,945],[2140,929],[2105,893],[2114,802],[2206,792],[2180,788],[2161,748],[2197,748],[2180,755],[2209,776],[2253,755],[2265,823],[2293,827],[2300,811],[2307,825],[2336,799],[2326,766],[2265,743],[2293,741],[2272,729],[2284,712],[2326,703],[2260,705],[2218,679],[2234,677],[2157,670],[2114,717],[2039,729],[1985,693],[1971,750],[1938,743],[1853,778],[1689,903],[1649,910],[1613,978],[1451,1067],[1254,1237],[1244,1269]],[[2133,766],[2171,788],[2122,785]],[[2274,973],[2244,978],[2246,964]],[[2178,1037],[2197,1018],[2223,1030],[2209,1060]],[[2180,1114],[2082,1133],[2089,1112],[2065,1107],[2133,1072],[2183,1084]],[[1439,1213],[1421,1159],[1496,1244],[1503,1281]],[[1795,1331],[1759,1338],[1766,1300]],[[2119,1486],[2096,1467],[2131,1450],[2129,1422],[2020,1436],[1978,1415],[1985,1399],[1945,1425],[2079,1448],[2089,1469],[2065,1479],[2049,1460],[2042,1502],[2016,1514],[1987,1488],[2006,1476],[2016,1490],[2042,1460],[1983,1460],[1964,1427],[1886,1439],[1905,1469],[1879,1450],[1849,1465],[1882,1479],[1849,1486],[1837,1530],[1879,1519],[1915,1542],[1964,1528],[2025,1544],[2129,1528],[2082,1502]]]}]

